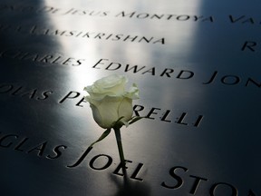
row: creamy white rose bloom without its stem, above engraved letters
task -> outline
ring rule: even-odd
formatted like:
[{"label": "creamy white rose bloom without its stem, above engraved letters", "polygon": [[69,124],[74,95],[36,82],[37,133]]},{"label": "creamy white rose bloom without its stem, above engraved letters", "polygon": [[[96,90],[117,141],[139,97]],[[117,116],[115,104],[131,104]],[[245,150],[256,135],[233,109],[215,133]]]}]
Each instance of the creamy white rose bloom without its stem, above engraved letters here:
[{"label": "creamy white rose bloom without its stem, above engraved letters", "polygon": [[127,78],[122,75],[112,74],[86,86],[90,96],[85,96],[92,108],[92,115],[102,128],[112,128],[113,122],[121,117],[121,122],[131,120],[133,109],[132,100],[139,99],[139,89],[133,83],[130,90],[125,91]]}]

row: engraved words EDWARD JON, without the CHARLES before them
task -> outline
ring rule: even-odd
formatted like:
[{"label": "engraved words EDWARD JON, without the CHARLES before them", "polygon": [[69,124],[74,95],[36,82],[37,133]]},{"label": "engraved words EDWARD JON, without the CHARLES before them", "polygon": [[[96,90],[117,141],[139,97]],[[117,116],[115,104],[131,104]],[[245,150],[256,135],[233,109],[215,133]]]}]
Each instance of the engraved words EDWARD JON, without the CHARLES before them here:
[{"label": "engraved words EDWARD JON, without the CHARLES before them", "polygon": [[[197,77],[197,74],[191,70],[179,70],[174,68],[162,68],[162,67],[149,67],[140,64],[125,64],[121,62],[114,62],[110,59],[102,58],[96,64],[92,65],[94,69],[102,69],[105,71],[116,71],[119,70],[123,73],[138,73],[142,75],[160,76],[163,78],[176,78],[179,80],[191,80]],[[201,80],[201,84],[207,85],[212,83],[221,83],[228,86],[234,86],[241,84],[245,87],[255,86],[257,88],[261,87],[261,81],[248,76],[243,77],[233,73],[220,73],[218,71],[213,71],[209,73],[205,78],[197,78]]]}]

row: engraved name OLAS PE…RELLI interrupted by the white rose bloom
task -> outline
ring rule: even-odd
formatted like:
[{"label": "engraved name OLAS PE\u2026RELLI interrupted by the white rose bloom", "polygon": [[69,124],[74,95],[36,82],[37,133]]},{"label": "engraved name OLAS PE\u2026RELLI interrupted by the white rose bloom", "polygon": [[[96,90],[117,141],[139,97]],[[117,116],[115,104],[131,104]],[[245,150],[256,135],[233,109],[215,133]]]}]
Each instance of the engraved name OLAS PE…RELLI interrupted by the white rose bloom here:
[{"label": "engraved name OLAS PE\u2026RELLI interrupted by the white rose bloom", "polygon": [[[17,83],[0,83],[0,95],[8,94],[14,97],[27,98],[35,101],[45,101],[54,96],[53,90],[43,90],[38,88],[30,88]],[[55,99],[53,97],[53,99]],[[89,106],[84,99],[84,95],[77,91],[69,91],[63,95],[59,95],[56,103],[71,104],[77,108]],[[198,128],[204,120],[203,114],[192,113],[191,111],[178,112],[160,107],[149,107],[140,104],[133,105],[133,112],[136,116],[144,116],[148,120],[160,122],[174,122],[178,125]]]}]

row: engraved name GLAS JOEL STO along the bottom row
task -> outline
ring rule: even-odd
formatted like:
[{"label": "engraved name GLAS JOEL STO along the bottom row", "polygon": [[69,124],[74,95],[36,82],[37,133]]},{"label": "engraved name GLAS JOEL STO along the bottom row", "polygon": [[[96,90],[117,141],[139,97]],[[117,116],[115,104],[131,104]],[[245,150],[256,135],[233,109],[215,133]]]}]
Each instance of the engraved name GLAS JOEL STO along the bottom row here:
[{"label": "engraved name GLAS JOEL STO along the bottom row", "polygon": [[[70,151],[73,147],[63,144],[54,144],[43,140],[42,142],[35,142],[34,138],[21,136],[17,133],[0,132],[0,149],[2,151],[13,151],[17,153],[24,153],[36,155],[38,158],[47,160],[57,160],[66,156],[66,151]],[[67,156],[68,157],[68,156]],[[80,153],[70,155],[72,160],[67,161],[63,165],[67,169],[77,169],[79,165],[88,165],[87,170],[104,171],[112,169],[111,175],[116,175],[119,178],[128,177],[132,181],[140,183],[148,182],[148,171],[155,171],[159,168],[148,168],[142,162],[133,162],[126,160],[126,165],[122,168],[119,161],[113,160],[113,157],[105,153],[93,153],[92,148],[87,148]],[[63,157],[64,158],[64,157]],[[68,160],[68,159],[65,159]],[[86,164],[87,163],[87,164]],[[126,172],[123,172],[126,171]],[[190,172],[189,168],[181,165],[173,165],[171,168],[163,168],[161,171],[166,171],[159,179],[159,183],[155,184],[163,188],[162,191],[168,191],[169,194],[188,192],[189,195],[198,195],[202,190],[208,190],[209,196],[218,196],[220,191],[227,192],[226,195],[237,196],[257,196],[256,191],[252,189],[238,190],[237,187],[227,181],[213,181],[206,176],[198,175],[198,173]],[[159,178],[159,177],[157,177]]]}]

